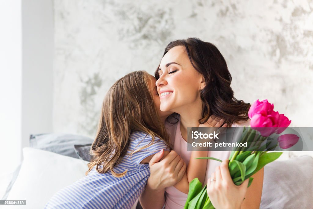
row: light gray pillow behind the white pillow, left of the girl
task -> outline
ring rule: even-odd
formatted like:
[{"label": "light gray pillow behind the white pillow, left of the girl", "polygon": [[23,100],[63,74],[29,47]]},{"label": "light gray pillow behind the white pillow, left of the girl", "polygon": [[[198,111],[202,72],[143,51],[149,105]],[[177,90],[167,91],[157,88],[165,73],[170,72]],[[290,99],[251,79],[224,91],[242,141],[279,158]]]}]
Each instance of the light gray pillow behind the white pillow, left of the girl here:
[{"label": "light gray pillow behind the white pillow, left of the girl", "polygon": [[29,139],[30,147],[42,149],[73,158],[79,158],[76,154],[75,144],[91,144],[94,140],[80,135],[47,133],[31,135]]}]

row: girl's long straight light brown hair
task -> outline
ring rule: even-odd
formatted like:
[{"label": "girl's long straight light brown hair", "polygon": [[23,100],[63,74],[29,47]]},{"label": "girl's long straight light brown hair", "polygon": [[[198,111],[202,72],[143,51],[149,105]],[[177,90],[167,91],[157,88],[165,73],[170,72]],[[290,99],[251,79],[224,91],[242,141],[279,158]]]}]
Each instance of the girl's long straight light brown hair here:
[{"label": "girl's long straight light brown hair", "polygon": [[[115,177],[124,176],[127,170],[116,173],[113,168],[127,153],[129,137],[134,131],[145,132],[151,135],[152,140],[132,154],[150,146],[155,137],[163,139],[169,146],[168,135],[149,91],[149,79],[146,71],[135,71],[116,81],[107,92],[86,175],[96,166],[99,173],[111,171]],[[102,164],[103,167],[99,168]]]}]

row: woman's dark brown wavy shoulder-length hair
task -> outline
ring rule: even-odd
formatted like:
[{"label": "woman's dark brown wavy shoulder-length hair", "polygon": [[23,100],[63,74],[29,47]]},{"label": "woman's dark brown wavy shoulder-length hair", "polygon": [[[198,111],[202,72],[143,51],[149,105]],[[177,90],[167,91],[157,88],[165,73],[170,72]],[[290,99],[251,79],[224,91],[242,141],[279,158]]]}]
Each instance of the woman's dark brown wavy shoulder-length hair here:
[{"label": "woman's dark brown wavy shoulder-length hair", "polygon": [[[213,114],[224,118],[224,123],[228,126],[248,120],[251,105],[234,97],[230,87],[232,76],[223,55],[216,46],[198,38],[179,39],[167,45],[163,56],[175,46],[185,47],[192,66],[205,78],[206,86],[200,92],[203,101],[203,118],[199,119],[199,123],[205,123]],[[160,65],[154,74],[156,79],[159,79],[159,67]]]}]

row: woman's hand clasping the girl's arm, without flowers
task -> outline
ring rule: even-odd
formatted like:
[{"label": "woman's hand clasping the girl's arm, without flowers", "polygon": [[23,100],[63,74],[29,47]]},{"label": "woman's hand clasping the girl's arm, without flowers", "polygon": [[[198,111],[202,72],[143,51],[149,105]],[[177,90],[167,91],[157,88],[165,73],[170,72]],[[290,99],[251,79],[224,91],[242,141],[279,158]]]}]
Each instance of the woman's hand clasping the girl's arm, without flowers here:
[{"label": "woman's hand clasping the girl's arm, without flowers", "polygon": [[168,151],[161,150],[149,162],[151,175],[147,184],[157,191],[175,185],[186,173],[186,163],[174,150],[162,159],[164,152]]}]

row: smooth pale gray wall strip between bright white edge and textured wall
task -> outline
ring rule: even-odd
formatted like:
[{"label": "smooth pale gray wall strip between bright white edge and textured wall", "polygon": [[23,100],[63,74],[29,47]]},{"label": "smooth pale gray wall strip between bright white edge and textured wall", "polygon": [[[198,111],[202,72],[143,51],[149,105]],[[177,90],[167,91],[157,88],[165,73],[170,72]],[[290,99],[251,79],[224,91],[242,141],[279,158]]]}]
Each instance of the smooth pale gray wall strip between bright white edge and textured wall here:
[{"label": "smooth pale gray wall strip between bright white edge and textured wall", "polygon": [[52,0],[23,0],[22,148],[52,127],[54,25]]}]

